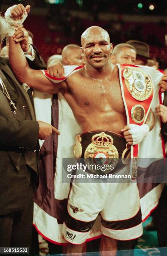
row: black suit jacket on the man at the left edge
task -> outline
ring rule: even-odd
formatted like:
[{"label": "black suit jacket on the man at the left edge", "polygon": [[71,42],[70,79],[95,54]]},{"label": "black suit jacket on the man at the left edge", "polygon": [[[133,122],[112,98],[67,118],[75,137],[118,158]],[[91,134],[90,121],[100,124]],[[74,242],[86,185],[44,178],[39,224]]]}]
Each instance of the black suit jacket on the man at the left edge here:
[{"label": "black suit jacket on the man at the left edge", "polygon": [[[38,60],[36,57],[36,68],[41,69]],[[8,58],[0,57],[0,71],[8,76],[13,88],[20,90],[31,119],[15,119],[7,98],[0,90],[0,215],[5,215],[25,207],[30,176],[38,172],[38,165],[34,162],[31,165],[30,159],[37,154],[34,150],[38,144],[39,125],[35,121],[30,97],[15,78]],[[30,166],[30,171],[26,164]]]}]

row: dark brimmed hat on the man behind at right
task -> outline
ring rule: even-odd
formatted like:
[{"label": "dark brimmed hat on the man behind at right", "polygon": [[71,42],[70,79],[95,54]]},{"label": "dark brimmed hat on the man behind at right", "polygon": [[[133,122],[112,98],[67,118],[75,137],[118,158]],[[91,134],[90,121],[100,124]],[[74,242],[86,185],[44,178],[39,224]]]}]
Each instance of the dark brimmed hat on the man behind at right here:
[{"label": "dark brimmed hat on the man behind at right", "polygon": [[129,40],[126,42],[126,44],[131,44],[132,46],[134,46],[134,48],[137,51],[137,55],[145,57],[146,59],[152,59],[151,57],[149,57],[149,45],[148,44],[141,42],[141,41],[137,41],[137,40]]}]

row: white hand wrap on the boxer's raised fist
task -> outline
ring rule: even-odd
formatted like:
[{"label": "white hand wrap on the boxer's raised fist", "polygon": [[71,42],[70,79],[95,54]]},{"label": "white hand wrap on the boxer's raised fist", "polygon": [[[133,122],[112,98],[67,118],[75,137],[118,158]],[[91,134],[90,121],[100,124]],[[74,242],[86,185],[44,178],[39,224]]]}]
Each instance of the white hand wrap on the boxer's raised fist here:
[{"label": "white hand wrap on the boxer's raised fist", "polygon": [[11,14],[11,9],[15,6],[17,5],[11,6],[5,12],[5,20],[8,23],[8,36],[13,36],[13,34],[15,33],[15,27],[22,25],[24,20],[27,18],[27,14],[23,13],[23,16],[21,19],[15,20],[13,15]]}]

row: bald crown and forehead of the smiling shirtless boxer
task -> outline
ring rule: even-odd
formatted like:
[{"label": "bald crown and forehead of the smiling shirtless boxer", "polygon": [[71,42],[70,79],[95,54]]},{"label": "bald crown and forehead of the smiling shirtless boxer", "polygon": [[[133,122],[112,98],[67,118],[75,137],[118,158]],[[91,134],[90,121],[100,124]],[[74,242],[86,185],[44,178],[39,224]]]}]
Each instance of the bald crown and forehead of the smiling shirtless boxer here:
[{"label": "bald crown and forehead of the smiling shirtless boxer", "polygon": [[84,46],[85,41],[90,41],[92,37],[96,40],[99,36],[103,37],[104,40],[107,40],[110,43],[109,33],[104,28],[98,26],[87,28],[81,35],[82,47]]}]

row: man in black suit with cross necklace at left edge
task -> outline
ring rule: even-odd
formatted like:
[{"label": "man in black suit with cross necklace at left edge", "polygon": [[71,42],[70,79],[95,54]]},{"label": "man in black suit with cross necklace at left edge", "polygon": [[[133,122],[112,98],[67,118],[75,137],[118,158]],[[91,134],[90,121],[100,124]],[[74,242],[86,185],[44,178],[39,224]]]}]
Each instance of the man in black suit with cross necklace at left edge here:
[{"label": "man in black suit with cross necklace at left edge", "polygon": [[[3,17],[0,28],[1,45],[7,32]],[[32,63],[31,67],[42,68],[37,56]],[[38,138],[58,133],[50,124],[35,120],[29,96],[30,90],[17,81],[8,58],[0,57],[0,247],[30,248]]]}]

